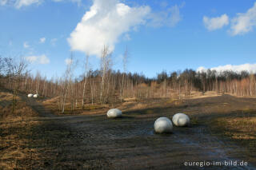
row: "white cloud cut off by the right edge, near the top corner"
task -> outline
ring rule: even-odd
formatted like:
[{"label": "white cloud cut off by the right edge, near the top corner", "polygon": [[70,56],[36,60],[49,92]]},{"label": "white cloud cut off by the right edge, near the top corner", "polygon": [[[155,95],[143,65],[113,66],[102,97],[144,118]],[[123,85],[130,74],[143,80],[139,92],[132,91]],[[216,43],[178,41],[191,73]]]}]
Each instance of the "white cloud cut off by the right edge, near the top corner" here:
[{"label": "white cloud cut off by the right edge, near the top corner", "polygon": [[231,21],[230,33],[232,35],[246,34],[256,26],[256,2],[246,13],[238,13]]}]

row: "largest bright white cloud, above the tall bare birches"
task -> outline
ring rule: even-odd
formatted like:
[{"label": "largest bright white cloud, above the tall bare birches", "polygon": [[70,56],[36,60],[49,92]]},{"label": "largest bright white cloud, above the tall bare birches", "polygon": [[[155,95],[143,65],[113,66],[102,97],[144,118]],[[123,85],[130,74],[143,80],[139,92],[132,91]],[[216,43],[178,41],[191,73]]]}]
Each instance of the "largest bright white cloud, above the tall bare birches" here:
[{"label": "largest bright white cloud, above the tall bare birches", "polygon": [[71,50],[99,57],[104,45],[114,50],[122,34],[145,24],[147,14],[149,6],[130,7],[118,0],[94,0],[67,41]]}]

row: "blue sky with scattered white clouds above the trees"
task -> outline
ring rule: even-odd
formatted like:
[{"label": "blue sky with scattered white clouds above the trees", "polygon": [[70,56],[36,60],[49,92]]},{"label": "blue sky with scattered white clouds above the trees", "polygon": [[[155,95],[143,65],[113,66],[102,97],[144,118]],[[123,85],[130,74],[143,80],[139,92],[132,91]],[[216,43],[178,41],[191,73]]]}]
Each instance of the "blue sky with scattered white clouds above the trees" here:
[{"label": "blue sky with scattered white clouds above the trees", "polygon": [[0,55],[23,57],[32,73],[76,73],[108,46],[113,69],[155,77],[163,70],[256,73],[255,0],[0,0]]}]

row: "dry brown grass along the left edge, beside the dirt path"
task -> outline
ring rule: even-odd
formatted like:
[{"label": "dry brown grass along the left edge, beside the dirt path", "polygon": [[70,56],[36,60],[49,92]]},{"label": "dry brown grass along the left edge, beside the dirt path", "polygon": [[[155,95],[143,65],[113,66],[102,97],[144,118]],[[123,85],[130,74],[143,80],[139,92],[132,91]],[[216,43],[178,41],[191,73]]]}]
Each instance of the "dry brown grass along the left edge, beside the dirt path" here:
[{"label": "dry brown grass along the left edge, beside the dirt path", "polygon": [[[2,100],[11,100],[10,93],[1,93]],[[37,116],[25,103],[18,101],[14,113],[12,106],[0,108],[0,169],[25,169],[27,163],[37,159],[37,153],[30,148],[30,129],[38,125]]]}]

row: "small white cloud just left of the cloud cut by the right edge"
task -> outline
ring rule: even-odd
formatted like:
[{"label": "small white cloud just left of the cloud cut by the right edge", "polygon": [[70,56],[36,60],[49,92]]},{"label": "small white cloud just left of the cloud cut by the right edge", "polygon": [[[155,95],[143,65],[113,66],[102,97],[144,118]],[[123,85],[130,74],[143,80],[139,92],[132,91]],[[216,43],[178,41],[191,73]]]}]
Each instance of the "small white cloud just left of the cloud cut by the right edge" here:
[{"label": "small white cloud just left of the cloud cut by the right edge", "polygon": [[229,17],[226,14],[222,14],[220,17],[216,18],[208,18],[204,16],[202,18],[204,25],[206,26],[207,30],[218,30],[221,29],[223,26],[229,25]]}]

